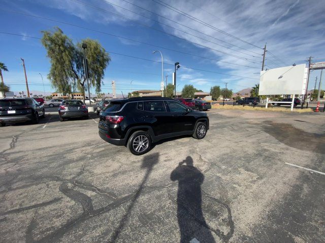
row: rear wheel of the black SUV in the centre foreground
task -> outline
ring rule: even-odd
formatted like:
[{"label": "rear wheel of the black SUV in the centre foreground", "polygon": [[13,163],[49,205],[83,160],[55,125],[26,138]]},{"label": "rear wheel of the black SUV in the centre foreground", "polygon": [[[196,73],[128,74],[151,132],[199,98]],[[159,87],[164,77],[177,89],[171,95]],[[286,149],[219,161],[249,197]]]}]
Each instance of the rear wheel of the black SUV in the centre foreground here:
[{"label": "rear wheel of the black SUV in the centre foreground", "polygon": [[151,137],[144,131],[137,131],[131,135],[127,142],[127,148],[134,155],[142,155],[150,150]]}]

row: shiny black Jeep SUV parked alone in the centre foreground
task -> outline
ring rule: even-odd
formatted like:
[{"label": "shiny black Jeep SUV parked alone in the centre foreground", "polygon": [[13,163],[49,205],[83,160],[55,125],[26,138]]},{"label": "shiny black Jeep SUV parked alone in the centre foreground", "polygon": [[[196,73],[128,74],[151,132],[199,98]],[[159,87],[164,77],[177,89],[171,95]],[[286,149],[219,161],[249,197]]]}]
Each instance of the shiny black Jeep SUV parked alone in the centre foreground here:
[{"label": "shiny black Jeep SUV parked alone in the centre foreground", "polygon": [[99,135],[114,145],[126,145],[135,155],[151,143],[181,135],[203,139],[209,129],[207,113],[170,98],[111,100],[100,113]]}]

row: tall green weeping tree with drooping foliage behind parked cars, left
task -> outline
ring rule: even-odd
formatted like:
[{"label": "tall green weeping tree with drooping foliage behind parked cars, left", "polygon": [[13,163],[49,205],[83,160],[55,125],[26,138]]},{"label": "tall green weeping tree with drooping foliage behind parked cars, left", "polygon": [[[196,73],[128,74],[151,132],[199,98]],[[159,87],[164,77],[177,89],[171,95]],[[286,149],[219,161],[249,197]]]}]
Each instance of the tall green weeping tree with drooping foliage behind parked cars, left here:
[{"label": "tall green weeping tree with drooping foliage behind parked cars, left", "polygon": [[88,60],[89,88],[94,87],[96,93],[101,91],[104,70],[111,58],[98,41],[83,39],[74,45],[63,31],[56,27],[55,31],[42,31],[42,44],[50,59],[51,68],[48,78],[60,93],[71,94],[76,87],[82,92],[88,90],[84,75],[82,44],[87,44],[86,56]]}]

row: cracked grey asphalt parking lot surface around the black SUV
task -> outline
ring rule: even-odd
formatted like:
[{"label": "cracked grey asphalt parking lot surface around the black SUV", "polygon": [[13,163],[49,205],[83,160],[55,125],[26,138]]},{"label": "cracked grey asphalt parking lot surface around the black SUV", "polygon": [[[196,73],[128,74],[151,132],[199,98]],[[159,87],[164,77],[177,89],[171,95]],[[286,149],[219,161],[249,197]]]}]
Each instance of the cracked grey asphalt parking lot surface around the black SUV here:
[{"label": "cracked grey asphalt parking lot surface around the black SUV", "polygon": [[145,155],[98,118],[0,128],[1,242],[325,242],[325,115],[209,111]]}]

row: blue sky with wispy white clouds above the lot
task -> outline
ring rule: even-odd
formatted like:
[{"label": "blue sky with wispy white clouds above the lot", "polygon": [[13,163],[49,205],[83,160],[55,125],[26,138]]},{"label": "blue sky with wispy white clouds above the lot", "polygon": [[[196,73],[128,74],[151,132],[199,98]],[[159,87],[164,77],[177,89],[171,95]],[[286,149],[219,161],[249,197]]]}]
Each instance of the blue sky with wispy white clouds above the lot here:
[{"label": "blue sky with wispy white clouds above the lot", "polygon": [[[58,26],[73,41],[98,40],[109,53],[103,93],[159,90],[161,56],[164,80],[172,82],[179,62],[177,91],[186,84],[209,92],[218,85],[234,92],[259,83],[265,68],[325,61],[325,1],[300,0],[0,0],[0,62],[4,81],[24,91],[55,92],[47,74],[50,62],[39,38]],[[40,18],[41,17],[41,18]],[[59,22],[58,22],[59,21]],[[35,38],[32,38],[35,37]],[[320,70],[310,74],[317,86]],[[323,77],[325,76],[325,73]],[[132,83],[132,84],[131,84]],[[325,82],[322,82],[323,84]],[[92,89],[91,93],[95,91]]]}]

